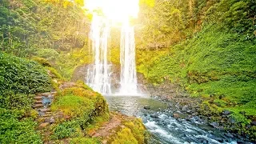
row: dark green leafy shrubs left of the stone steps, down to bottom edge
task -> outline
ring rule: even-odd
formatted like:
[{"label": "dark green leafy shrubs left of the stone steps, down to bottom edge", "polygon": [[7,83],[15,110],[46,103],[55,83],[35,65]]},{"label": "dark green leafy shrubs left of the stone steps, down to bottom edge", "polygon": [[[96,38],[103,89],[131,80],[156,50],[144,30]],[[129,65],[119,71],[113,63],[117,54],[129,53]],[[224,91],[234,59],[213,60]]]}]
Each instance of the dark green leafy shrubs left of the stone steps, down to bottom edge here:
[{"label": "dark green leafy shrubs left of the stone steps, down to bottom edge", "polygon": [[0,142],[41,143],[30,116],[34,94],[50,90],[50,77],[36,62],[0,53]]}]

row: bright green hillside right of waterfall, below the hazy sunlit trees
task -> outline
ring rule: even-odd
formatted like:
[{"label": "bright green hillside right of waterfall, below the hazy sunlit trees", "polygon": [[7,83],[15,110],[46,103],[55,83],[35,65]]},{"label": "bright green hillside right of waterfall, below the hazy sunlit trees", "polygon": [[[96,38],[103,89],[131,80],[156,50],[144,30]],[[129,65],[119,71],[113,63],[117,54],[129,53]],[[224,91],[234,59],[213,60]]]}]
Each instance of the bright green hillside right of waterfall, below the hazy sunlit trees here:
[{"label": "bright green hillside right of waterfall, below the hazy sunlit trees", "polygon": [[254,1],[222,0],[205,8],[202,30],[193,38],[138,50],[138,71],[154,84],[169,79],[181,85],[192,97],[204,98],[214,113],[231,110],[243,133],[256,117],[255,6]]}]

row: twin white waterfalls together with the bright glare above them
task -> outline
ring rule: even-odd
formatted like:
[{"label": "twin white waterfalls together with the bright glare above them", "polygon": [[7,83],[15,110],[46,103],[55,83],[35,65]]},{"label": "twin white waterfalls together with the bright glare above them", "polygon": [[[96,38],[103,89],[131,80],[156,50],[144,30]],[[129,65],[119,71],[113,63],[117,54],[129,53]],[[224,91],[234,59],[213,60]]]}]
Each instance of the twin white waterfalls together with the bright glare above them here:
[{"label": "twin white waterfalls together with the bright glare above them", "polygon": [[[137,75],[135,65],[134,26],[130,26],[130,18],[138,17],[139,0],[86,0],[86,9],[93,14],[91,23],[90,40],[94,63],[87,69],[86,83],[101,94],[112,94],[117,90],[122,95],[137,94]],[[101,11],[99,16],[96,11]],[[113,24],[113,25],[112,25]],[[115,25],[116,24],[116,25]],[[121,24],[121,74],[120,82],[111,78],[111,65],[108,62],[108,37],[110,26]],[[111,80],[112,82],[111,86]]]}]

